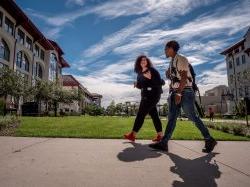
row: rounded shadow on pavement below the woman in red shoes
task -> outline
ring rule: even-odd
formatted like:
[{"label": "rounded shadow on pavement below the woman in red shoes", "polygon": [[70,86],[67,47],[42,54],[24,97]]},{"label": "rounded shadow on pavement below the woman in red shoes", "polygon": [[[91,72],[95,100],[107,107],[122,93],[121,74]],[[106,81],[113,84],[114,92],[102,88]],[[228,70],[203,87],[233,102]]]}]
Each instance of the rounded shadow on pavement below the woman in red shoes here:
[{"label": "rounded shadow on pavement below the woman in red shoes", "polygon": [[117,158],[123,162],[134,162],[142,161],[149,158],[157,158],[162,154],[156,151],[152,151],[147,144],[140,144],[135,142],[125,142],[130,143],[133,147],[128,147],[118,153]]}]

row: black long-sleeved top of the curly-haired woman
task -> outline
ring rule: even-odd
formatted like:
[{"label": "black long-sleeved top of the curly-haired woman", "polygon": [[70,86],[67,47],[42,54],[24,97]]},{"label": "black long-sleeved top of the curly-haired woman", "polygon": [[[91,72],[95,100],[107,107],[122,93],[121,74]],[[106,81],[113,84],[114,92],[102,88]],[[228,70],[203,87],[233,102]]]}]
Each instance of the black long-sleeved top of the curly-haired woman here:
[{"label": "black long-sleeved top of the curly-haired woman", "polygon": [[[151,79],[143,76],[143,73],[146,73],[147,71],[150,71]],[[161,79],[159,72],[155,68],[148,68],[147,71],[138,73],[136,87],[141,89],[141,93],[143,96],[153,96],[155,94],[161,94],[163,92],[162,85],[165,84],[164,80]]]}]

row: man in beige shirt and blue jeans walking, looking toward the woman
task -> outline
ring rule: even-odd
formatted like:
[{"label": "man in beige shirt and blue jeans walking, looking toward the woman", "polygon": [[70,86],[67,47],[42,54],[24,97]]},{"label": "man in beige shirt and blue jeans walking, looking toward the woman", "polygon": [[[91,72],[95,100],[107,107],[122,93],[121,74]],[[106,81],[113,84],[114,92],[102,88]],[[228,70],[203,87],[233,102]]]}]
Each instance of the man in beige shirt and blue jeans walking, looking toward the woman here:
[{"label": "man in beige shirt and blue jeans walking, looking toward the woman", "polygon": [[205,139],[205,147],[202,151],[209,153],[214,149],[217,142],[211,137],[206,126],[195,113],[195,93],[192,89],[193,78],[187,58],[178,54],[179,48],[180,46],[176,41],[169,41],[165,46],[166,57],[172,58],[166,72],[167,78],[171,80],[168,98],[168,123],[162,140],[158,143],[150,144],[149,147],[168,151],[168,141],[175,129],[180,110],[183,108],[186,116],[195,123]]}]

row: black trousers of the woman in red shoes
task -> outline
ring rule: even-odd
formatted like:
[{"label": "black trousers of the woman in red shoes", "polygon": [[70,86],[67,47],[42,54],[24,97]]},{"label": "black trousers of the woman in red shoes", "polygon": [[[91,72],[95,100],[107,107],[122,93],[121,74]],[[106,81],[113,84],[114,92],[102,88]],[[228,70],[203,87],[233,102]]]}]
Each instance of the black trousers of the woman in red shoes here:
[{"label": "black trousers of the woman in red shoes", "polygon": [[162,132],[162,124],[156,108],[156,105],[159,102],[160,98],[161,98],[161,92],[159,91],[151,90],[142,92],[139,111],[136,115],[133,127],[134,132],[139,132],[147,114],[151,116],[155,126],[155,130],[157,132]]}]

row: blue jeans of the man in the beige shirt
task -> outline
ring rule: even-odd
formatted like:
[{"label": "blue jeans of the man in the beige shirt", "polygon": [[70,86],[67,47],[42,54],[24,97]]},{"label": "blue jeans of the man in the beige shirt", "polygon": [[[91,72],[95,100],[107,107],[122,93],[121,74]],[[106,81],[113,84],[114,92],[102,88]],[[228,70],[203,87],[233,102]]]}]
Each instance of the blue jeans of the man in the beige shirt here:
[{"label": "blue jeans of the man in the beige shirt", "polygon": [[182,99],[181,103],[176,105],[175,104],[175,94],[176,92],[173,91],[170,93],[168,97],[168,123],[165,130],[165,135],[162,139],[162,143],[167,143],[170,140],[172,133],[176,126],[177,117],[180,114],[181,108],[185,112],[186,116],[189,120],[193,121],[196,127],[200,130],[201,134],[203,135],[204,139],[210,139],[211,136],[208,132],[208,129],[201,121],[201,119],[195,113],[195,94],[193,89],[185,88],[182,92]]}]

